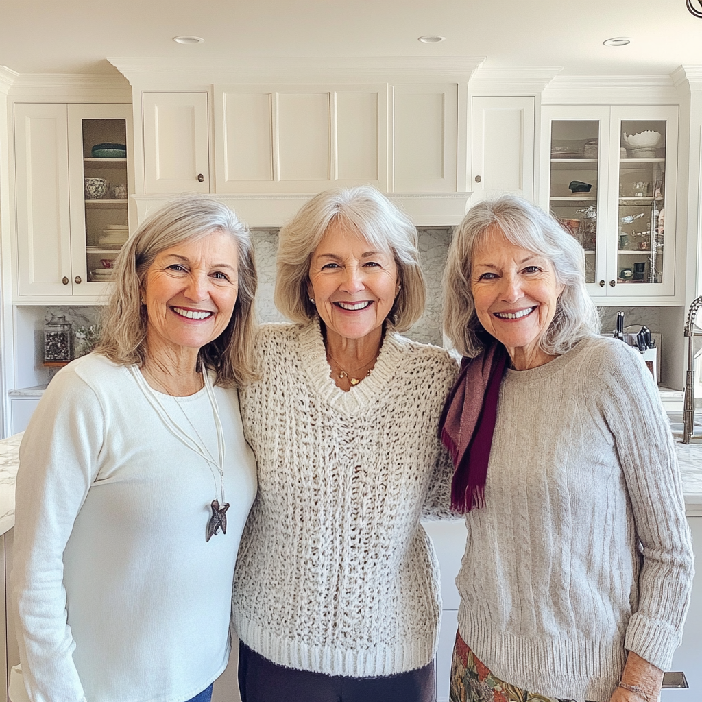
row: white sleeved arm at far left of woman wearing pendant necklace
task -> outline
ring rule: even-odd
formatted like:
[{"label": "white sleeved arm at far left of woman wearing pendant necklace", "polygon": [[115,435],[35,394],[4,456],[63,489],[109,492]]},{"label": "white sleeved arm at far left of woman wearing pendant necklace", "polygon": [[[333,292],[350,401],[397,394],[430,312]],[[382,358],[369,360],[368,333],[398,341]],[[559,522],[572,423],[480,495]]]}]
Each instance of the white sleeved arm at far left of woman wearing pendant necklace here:
[{"label": "white sleeved arm at far left of woman wearing pendant necklace", "polygon": [[48,385],[20,446],[12,571],[20,660],[33,701],[80,702],[63,552],[97,474],[102,405],[70,366]]}]

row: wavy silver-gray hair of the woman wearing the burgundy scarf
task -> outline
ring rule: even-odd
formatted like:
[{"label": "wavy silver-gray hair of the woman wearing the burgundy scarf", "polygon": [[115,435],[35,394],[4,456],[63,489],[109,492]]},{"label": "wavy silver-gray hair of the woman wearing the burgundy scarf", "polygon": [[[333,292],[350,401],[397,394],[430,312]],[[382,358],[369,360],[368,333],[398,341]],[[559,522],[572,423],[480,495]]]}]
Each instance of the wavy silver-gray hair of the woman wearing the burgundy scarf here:
[{"label": "wavy silver-gray hair of the woman wearing the burgundy scarf", "polygon": [[600,332],[600,315],[585,289],[585,252],[555,217],[516,195],[479,202],[453,234],[444,270],[444,331],[464,356],[482,350],[476,332],[470,275],[475,251],[497,232],[515,246],[548,258],[565,287],[540,347],[549,355],[568,352],[579,340]]}]

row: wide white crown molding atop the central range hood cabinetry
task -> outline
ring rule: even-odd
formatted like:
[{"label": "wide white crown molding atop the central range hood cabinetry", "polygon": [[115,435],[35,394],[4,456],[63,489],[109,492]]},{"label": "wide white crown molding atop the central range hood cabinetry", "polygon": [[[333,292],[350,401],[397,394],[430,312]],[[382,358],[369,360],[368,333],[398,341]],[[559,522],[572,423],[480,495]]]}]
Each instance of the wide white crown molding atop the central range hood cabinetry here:
[{"label": "wide white crown molding atop the central range hood cabinetry", "polygon": [[484,56],[379,56],[234,58],[110,58],[132,85],[271,82],[467,82]]}]

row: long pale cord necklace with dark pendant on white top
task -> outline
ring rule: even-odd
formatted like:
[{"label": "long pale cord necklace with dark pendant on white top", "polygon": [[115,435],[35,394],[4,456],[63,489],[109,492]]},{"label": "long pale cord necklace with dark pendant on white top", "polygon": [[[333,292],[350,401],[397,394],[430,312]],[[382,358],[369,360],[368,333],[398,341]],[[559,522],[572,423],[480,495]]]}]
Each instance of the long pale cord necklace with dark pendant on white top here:
[{"label": "long pale cord necklace with dark pendant on white top", "polygon": [[173,434],[178,441],[182,442],[187,446],[188,449],[191,451],[194,451],[194,453],[197,453],[200,458],[202,458],[208,465],[208,468],[210,468],[212,472],[212,477],[215,480],[215,492],[217,491],[217,481],[215,478],[215,472],[212,470],[212,466],[214,466],[220,476],[220,494],[222,496],[222,504],[220,505],[220,502],[217,497],[213,499],[213,501],[210,503],[210,508],[212,510],[212,516],[210,517],[209,521],[207,522],[207,529],[205,533],[205,541],[209,541],[213,536],[217,536],[219,533],[219,530],[222,529],[222,533],[226,534],[227,533],[227,510],[229,509],[229,503],[225,502],[224,498],[224,459],[225,459],[225,443],[224,443],[224,430],[222,428],[222,421],[220,420],[220,413],[219,413],[219,407],[217,405],[217,398],[215,397],[214,390],[212,388],[212,380],[210,379],[209,373],[207,373],[206,369],[203,366],[202,369],[202,379],[204,381],[204,386],[205,390],[207,392],[207,397],[210,401],[210,406],[212,408],[212,415],[214,418],[215,422],[215,429],[217,432],[217,448],[218,448],[218,453],[219,453],[219,461],[215,461],[213,458],[212,454],[210,451],[207,449],[207,446],[205,446],[205,442],[202,440],[202,437],[199,435],[197,429],[195,429],[194,425],[190,421],[190,418],[188,418],[187,414],[185,414],[185,410],[183,407],[178,404],[178,400],[176,399],[176,404],[178,404],[178,408],[180,409],[181,412],[183,412],[183,416],[185,416],[185,419],[187,422],[190,424],[190,426],[193,428],[195,434],[197,435],[198,439],[200,439],[200,442],[198,443],[195,441],[192,437],[187,435],[185,430],[174,420],[170,414],[168,414],[168,410],[161,404],[161,400],[159,400],[159,397],[156,395],[154,390],[152,389],[151,385],[146,382],[146,379],[144,378],[143,374],[141,371],[137,368],[137,366],[129,366],[129,371],[131,372],[133,378],[136,380],[137,385],[141,388],[141,391],[144,393],[146,399],[148,400],[149,404],[154,408],[158,416],[161,418],[161,421],[164,423],[166,426],[166,429],[168,429],[171,434]]}]

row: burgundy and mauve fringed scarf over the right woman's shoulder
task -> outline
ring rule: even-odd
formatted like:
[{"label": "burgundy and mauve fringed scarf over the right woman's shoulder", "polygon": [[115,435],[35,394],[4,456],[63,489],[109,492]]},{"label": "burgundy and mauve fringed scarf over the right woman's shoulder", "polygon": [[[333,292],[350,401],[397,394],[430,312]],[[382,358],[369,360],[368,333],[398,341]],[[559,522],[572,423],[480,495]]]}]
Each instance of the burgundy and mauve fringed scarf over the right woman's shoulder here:
[{"label": "burgundy and mauve fringed scarf over the right woman's shoulder", "polygon": [[459,514],[485,503],[487,464],[508,361],[505,347],[487,338],[490,341],[479,355],[463,359],[439,420],[439,437],[456,468],[451,482],[451,509]]}]

